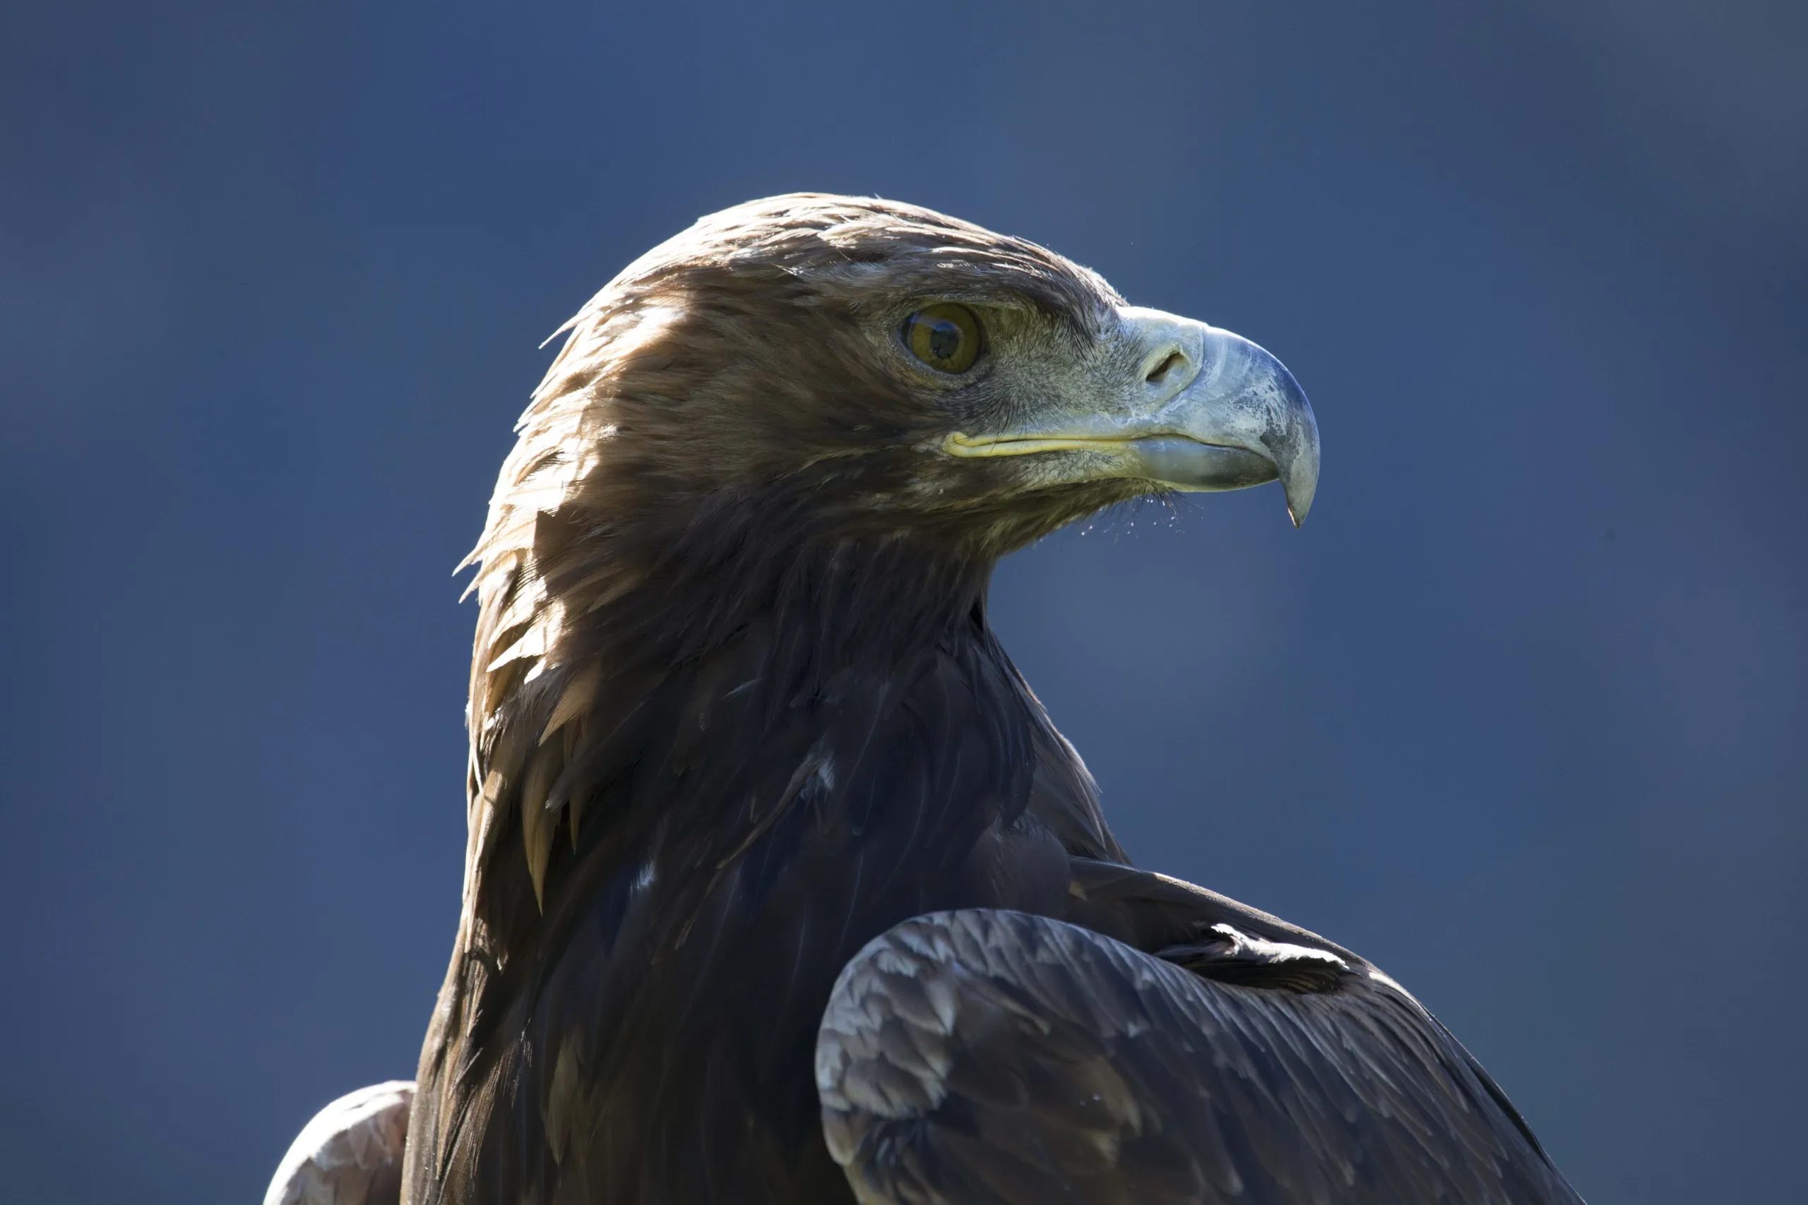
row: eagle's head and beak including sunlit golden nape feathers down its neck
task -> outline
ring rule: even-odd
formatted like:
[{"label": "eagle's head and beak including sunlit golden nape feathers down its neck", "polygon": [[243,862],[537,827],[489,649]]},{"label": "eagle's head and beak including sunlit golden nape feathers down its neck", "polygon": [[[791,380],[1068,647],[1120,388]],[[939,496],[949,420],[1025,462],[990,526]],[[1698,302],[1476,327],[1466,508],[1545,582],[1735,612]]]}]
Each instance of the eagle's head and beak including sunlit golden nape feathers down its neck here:
[{"label": "eagle's head and beak including sunlit golden nape feathers down its neck", "polygon": [[964,621],[1000,555],[1099,508],[1278,479],[1300,522],[1318,479],[1255,343],[890,201],[709,215],[564,331],[470,558],[474,808],[530,827],[568,793],[551,733],[759,616],[830,663]]}]

